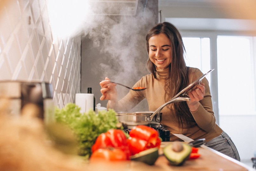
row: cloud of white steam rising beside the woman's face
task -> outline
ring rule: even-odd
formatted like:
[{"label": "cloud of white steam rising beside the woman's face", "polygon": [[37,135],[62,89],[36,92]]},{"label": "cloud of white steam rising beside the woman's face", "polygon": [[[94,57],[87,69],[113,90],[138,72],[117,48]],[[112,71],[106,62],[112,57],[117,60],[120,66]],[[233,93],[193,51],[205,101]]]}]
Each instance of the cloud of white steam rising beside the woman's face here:
[{"label": "cloud of white steam rising beside the woman's face", "polygon": [[[97,23],[101,24],[88,33],[89,39],[93,40],[92,48],[102,54],[100,58],[95,56],[100,67],[93,67],[93,73],[99,73],[102,79],[108,77],[131,87],[147,74],[145,35],[152,27],[148,26],[151,20],[152,14],[140,18],[104,16],[100,22],[98,20]],[[120,86],[117,89],[120,98],[129,91]]]}]

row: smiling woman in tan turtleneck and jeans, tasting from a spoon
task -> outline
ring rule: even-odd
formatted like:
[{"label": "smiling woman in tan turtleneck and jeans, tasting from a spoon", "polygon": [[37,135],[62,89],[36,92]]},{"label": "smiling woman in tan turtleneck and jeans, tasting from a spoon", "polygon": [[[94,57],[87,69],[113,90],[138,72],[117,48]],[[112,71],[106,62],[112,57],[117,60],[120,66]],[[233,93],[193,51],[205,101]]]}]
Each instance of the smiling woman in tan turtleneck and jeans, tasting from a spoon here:
[{"label": "smiling woman in tan turtleneck and jeans, tasting from a spoon", "polygon": [[[130,91],[117,101],[116,84],[108,78],[100,82],[100,100],[109,100],[107,108],[129,111],[144,98],[149,111],[155,111],[165,102],[198,79],[203,73],[187,67],[184,60],[185,48],[178,29],[168,22],[157,24],[146,35],[151,74],[142,77],[133,87],[147,87],[141,92]],[[172,103],[161,112],[163,127],[172,134],[183,134],[191,139],[205,138],[206,146],[240,161],[238,151],[230,137],[215,123],[212,96],[206,78],[195,89],[188,92],[190,101]],[[178,140],[171,136],[171,141]]]}]

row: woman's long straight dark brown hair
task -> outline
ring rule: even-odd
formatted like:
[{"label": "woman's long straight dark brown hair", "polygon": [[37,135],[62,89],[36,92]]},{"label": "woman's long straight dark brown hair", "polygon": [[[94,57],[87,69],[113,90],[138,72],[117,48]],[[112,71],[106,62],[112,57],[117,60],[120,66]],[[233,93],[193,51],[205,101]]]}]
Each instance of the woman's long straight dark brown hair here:
[{"label": "woman's long straight dark brown hair", "polygon": [[[185,64],[184,53],[185,47],[179,30],[169,22],[159,23],[154,26],[146,35],[147,51],[149,53],[149,39],[160,33],[165,34],[171,41],[172,48],[172,62],[169,65],[169,72],[165,79],[165,102],[170,101],[172,97],[183,90],[189,83],[188,81],[188,67]],[[147,68],[156,78],[156,66],[148,59]],[[179,125],[183,128],[183,123],[191,125],[194,121],[190,114],[186,102],[172,103],[168,108],[177,116]]]}]

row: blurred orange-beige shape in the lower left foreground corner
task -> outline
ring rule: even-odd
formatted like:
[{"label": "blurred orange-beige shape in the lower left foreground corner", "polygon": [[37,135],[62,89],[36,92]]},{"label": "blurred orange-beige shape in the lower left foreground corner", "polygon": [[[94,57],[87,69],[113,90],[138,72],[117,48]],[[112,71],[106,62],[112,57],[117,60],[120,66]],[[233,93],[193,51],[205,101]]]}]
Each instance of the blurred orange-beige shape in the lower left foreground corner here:
[{"label": "blurred orange-beige shape in the lower left foreground corner", "polygon": [[43,120],[34,117],[37,105],[26,106],[20,117],[5,113],[5,107],[1,103],[0,170],[76,171],[87,167],[77,155],[66,155],[53,147]]}]

